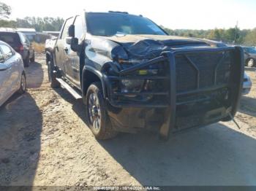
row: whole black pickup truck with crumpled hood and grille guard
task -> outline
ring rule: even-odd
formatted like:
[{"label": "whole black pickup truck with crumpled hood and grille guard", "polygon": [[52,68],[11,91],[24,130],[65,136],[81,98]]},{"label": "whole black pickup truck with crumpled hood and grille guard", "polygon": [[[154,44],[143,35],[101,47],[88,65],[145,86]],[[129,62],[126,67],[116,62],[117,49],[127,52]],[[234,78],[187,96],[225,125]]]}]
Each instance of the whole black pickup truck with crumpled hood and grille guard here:
[{"label": "whole black pickup truck with crumpled hood and grille guard", "polygon": [[241,47],[168,36],[143,16],[84,12],[45,47],[52,87],[83,98],[97,139],[155,130],[160,138],[231,120],[244,79]]}]

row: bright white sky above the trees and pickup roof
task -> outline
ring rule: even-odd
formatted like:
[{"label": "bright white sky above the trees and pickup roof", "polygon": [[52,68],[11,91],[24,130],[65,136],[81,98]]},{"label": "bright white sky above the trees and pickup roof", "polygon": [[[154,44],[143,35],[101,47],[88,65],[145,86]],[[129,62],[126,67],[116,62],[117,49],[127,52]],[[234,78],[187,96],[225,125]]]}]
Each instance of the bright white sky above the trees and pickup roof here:
[{"label": "bright white sky above the trees and pickup roof", "polygon": [[12,17],[69,17],[91,12],[126,11],[143,15],[167,28],[256,27],[256,0],[1,0],[12,7]]}]

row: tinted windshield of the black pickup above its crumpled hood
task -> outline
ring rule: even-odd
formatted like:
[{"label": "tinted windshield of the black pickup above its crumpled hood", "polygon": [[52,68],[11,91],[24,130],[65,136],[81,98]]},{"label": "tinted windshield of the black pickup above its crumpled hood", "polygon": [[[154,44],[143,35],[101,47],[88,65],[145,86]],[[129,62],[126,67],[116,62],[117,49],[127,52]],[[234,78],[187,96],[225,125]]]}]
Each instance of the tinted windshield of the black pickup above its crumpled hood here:
[{"label": "tinted windshield of the black pickup above its crumpled hood", "polygon": [[87,31],[97,36],[114,36],[125,34],[157,34],[166,35],[159,26],[151,20],[118,13],[86,14]]}]

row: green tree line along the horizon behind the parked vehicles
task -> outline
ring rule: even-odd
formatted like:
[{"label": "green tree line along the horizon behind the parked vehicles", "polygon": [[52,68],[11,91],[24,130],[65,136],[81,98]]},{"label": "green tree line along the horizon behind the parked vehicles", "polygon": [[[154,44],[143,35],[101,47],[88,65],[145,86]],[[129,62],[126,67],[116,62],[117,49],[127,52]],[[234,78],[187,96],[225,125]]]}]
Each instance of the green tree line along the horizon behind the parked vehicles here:
[{"label": "green tree line along the horizon behind the parked vehicles", "polygon": [[[6,20],[11,15],[12,9],[7,4],[0,2],[0,27],[11,28],[35,28],[36,31],[59,31],[64,19],[61,17],[24,17],[17,20]],[[202,39],[213,39],[228,44],[244,44],[247,46],[256,46],[256,28],[214,28],[209,30],[188,30],[188,29],[170,29],[162,28],[170,35],[190,36]]]}]

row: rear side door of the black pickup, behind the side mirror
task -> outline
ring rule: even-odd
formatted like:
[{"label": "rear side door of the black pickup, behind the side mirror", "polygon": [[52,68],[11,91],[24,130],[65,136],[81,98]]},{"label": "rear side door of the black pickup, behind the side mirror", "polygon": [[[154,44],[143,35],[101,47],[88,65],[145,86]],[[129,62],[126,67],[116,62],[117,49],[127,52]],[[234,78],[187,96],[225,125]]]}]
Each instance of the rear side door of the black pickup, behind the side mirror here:
[{"label": "rear side door of the black pickup, behind the side mirror", "polygon": [[70,51],[70,45],[66,43],[66,37],[68,36],[68,28],[73,24],[74,17],[69,17],[61,31],[59,39],[56,42],[56,65],[61,71],[61,75],[66,77],[67,75],[67,61],[69,60],[68,53]]}]

